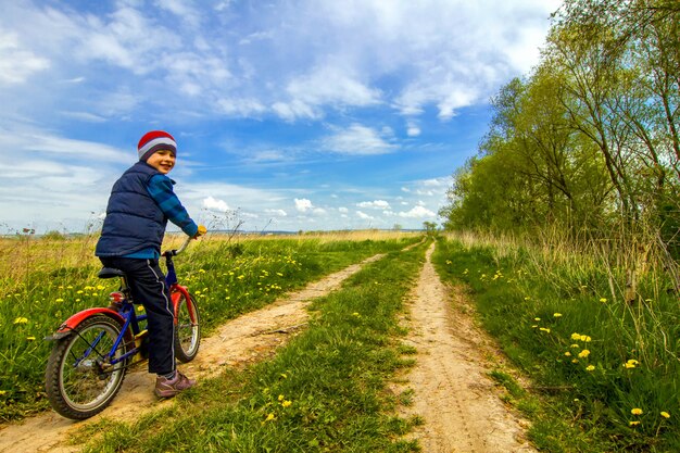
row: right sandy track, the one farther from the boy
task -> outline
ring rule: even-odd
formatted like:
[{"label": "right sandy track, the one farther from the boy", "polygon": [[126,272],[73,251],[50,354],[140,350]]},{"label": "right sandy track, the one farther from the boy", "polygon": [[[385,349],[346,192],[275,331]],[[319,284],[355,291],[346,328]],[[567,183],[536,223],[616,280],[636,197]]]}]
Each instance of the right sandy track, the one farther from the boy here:
[{"label": "right sandy track, the one farther from the boy", "polygon": [[[475,328],[459,288],[448,290],[427,260],[410,302],[416,365],[406,376],[413,405],[403,415],[418,415],[418,438],[426,453],[534,452],[519,418],[499,399],[487,376],[491,341]],[[403,389],[401,389],[403,390]]]}]

